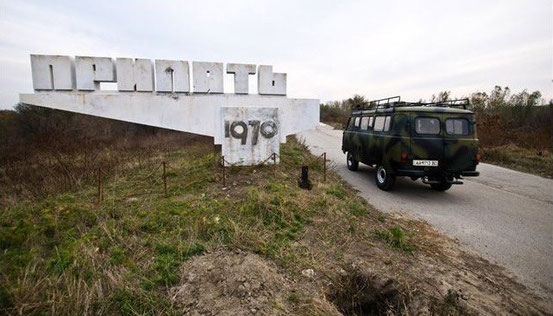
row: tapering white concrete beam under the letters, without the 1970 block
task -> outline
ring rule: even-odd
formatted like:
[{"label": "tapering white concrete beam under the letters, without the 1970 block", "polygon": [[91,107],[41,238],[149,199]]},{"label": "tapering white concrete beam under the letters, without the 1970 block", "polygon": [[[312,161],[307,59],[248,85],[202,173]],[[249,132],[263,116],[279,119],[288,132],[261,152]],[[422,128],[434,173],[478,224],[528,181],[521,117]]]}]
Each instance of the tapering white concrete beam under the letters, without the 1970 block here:
[{"label": "tapering white concrete beam under the letters, without the 1970 block", "polygon": [[222,144],[221,108],[279,109],[280,142],[319,122],[319,100],[260,95],[181,95],[167,93],[37,92],[21,94],[23,103],[127,122],[212,136]]}]

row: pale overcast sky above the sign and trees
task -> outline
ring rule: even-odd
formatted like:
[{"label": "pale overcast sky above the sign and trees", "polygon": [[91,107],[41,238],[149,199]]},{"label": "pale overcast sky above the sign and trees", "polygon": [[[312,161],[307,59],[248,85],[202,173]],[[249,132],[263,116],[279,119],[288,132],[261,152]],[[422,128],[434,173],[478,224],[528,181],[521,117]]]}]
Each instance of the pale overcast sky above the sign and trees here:
[{"label": "pale overcast sky above the sign and trees", "polygon": [[31,53],[273,65],[290,97],[322,102],[494,85],[550,99],[552,17],[551,0],[0,0],[0,108],[32,91]]}]

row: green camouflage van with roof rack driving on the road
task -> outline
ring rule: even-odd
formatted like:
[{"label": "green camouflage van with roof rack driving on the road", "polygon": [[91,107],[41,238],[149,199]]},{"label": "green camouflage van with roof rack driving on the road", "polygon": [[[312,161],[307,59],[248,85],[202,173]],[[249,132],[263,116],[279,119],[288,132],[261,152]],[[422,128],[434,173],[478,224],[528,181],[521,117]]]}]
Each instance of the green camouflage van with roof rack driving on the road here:
[{"label": "green camouflage van with roof rack driving on the road", "polygon": [[352,111],[342,139],[348,169],[357,170],[359,162],[376,166],[376,184],[385,191],[396,176],[420,178],[437,191],[478,176],[476,122],[468,104],[392,97]]}]

